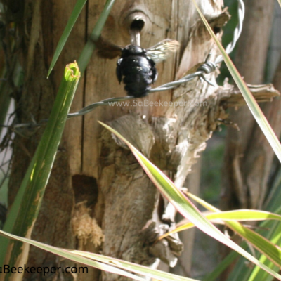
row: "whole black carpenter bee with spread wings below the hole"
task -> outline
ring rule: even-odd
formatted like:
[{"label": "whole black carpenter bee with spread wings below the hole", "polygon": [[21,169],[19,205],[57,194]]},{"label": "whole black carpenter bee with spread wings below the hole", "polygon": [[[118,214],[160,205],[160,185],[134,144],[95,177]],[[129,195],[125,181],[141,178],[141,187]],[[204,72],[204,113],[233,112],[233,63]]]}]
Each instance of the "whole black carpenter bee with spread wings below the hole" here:
[{"label": "whole black carpenter bee with spread wings below the hole", "polygon": [[117,79],[121,83],[124,77],[124,89],[129,96],[136,98],[146,96],[151,89],[151,84],[157,80],[158,72],[155,64],[168,58],[169,54],[175,52],[179,46],[178,41],[165,39],[148,49],[137,45],[120,47],[101,37],[95,44],[100,57],[110,59],[120,57],[117,60]]}]

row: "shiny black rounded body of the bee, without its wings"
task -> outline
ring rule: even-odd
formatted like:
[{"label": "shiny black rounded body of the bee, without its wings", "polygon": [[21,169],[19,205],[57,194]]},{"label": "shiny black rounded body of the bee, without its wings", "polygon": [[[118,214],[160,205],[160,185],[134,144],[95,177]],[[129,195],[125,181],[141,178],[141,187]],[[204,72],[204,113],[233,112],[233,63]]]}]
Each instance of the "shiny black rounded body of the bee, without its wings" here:
[{"label": "shiny black rounded body of the bee, without its wings", "polygon": [[[153,71],[154,67],[154,71]],[[155,80],[155,66],[148,58],[130,55],[117,65],[117,76],[124,77],[125,90],[129,96],[146,96],[151,89],[150,84]]]}]

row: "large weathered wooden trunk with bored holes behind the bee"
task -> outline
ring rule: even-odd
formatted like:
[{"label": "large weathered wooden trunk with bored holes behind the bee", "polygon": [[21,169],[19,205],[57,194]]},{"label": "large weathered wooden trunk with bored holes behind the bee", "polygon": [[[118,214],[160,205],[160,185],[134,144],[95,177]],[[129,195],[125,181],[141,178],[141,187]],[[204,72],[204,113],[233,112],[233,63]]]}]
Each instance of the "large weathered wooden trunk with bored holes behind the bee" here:
[{"label": "large weathered wooden trunk with bored holes behind the bee", "polygon": [[[46,80],[53,51],[74,3],[30,0],[25,1],[25,8],[19,12],[22,13],[18,18],[22,38],[20,55],[25,67],[25,84],[17,99],[20,123],[30,122],[30,115],[37,121],[48,117],[50,100],[58,89],[63,68],[78,58],[104,5],[98,0],[86,4],[65,51],[50,79]],[[221,20],[216,21],[216,18],[221,13],[222,1],[198,0],[197,3],[212,20],[213,26],[221,27]],[[154,86],[173,81],[176,72],[177,77],[181,77],[191,67],[204,61],[210,51],[210,60],[218,55],[192,1],[117,0],[103,30],[103,37],[115,44],[129,44],[129,27],[135,15],[145,21],[141,33],[141,46],[144,48],[167,37],[181,42],[176,58],[171,57],[157,66],[159,79]],[[181,65],[178,66],[180,58]],[[105,98],[126,95],[124,86],[118,85],[115,78],[115,67],[115,60],[93,56],[80,81],[72,112]],[[215,83],[214,73],[207,78]],[[32,238],[58,247],[101,251],[108,256],[148,266],[155,263],[157,257],[174,264],[176,258],[173,252],[181,250],[180,242],[174,239],[152,246],[155,231],[161,231],[159,225],[170,225],[174,220],[174,209],[169,206],[162,216],[163,211],[157,209],[159,194],[154,185],[131,152],[115,142],[97,121],[108,122],[121,132],[181,188],[198,152],[204,150],[205,141],[226,117],[224,110],[228,107],[227,99],[232,91],[231,87],[209,86],[197,78],[175,91],[153,93],[138,99],[137,106],[135,101],[131,101],[126,106],[100,107],[85,117],[70,119]],[[143,106],[145,100],[152,102],[152,106]],[[165,102],[173,103],[164,106]],[[10,204],[41,131],[27,139],[15,138]],[[77,229],[81,231],[78,233]],[[31,248],[28,265],[64,267],[73,263]],[[65,280],[74,278],[63,276]],[[25,280],[47,278],[25,275]],[[89,273],[79,275],[78,280],[99,278],[98,270],[89,269]],[[103,273],[101,278],[104,281],[126,280],[107,273]]]}]

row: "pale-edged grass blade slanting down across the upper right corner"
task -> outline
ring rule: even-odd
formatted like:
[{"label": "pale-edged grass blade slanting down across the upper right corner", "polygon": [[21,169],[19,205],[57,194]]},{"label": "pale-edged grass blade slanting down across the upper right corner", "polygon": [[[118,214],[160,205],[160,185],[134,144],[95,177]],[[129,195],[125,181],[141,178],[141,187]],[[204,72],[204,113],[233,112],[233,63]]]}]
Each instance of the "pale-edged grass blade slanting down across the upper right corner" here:
[{"label": "pale-edged grass blade slanting down across the upper right corner", "polygon": [[198,8],[195,0],[192,0],[195,4],[198,13],[200,13],[200,16],[204,22],[204,24],[207,27],[207,30],[211,34],[211,37],[213,37],[214,41],[216,42],[216,45],[218,46],[219,50],[221,51],[221,55],[223,56],[223,60],[226,63],[226,66],[228,67],[228,70],[230,74],[232,75],[233,79],[235,80],[235,83],[237,84],[238,88],[240,89],[242,96],[244,97],[244,100],[246,101],[249,110],[251,110],[252,115],[256,119],[256,122],[261,127],[261,130],[263,131],[264,135],[266,136],[268,142],[270,143],[271,147],[273,148],[277,158],[281,162],[281,145],[280,141],[278,140],[277,136],[275,135],[273,129],[271,128],[270,124],[268,123],[268,120],[263,115],[263,112],[261,111],[261,108],[259,107],[258,103],[256,103],[256,100],[254,99],[254,96],[249,91],[247,85],[243,81],[242,77],[240,76],[239,72],[237,71],[235,65],[231,61],[230,57],[224,50],[223,46],[221,46],[221,43],[216,38],[216,35],[214,34],[213,30],[211,30],[211,27],[209,26],[209,23],[207,22],[206,18],[204,18],[204,15],[200,11],[200,8]]}]

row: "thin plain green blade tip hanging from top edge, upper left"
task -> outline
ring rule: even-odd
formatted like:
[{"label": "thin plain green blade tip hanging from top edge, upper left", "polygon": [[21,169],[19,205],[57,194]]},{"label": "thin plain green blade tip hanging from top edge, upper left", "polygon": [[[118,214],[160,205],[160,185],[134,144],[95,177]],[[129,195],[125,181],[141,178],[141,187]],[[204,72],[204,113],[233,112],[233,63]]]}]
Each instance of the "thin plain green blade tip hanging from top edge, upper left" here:
[{"label": "thin plain green blade tip hanging from top edge, upper left", "polygon": [[55,66],[55,63],[57,62],[61,51],[63,51],[63,47],[65,46],[67,38],[70,36],[70,32],[72,31],[72,28],[74,27],[74,24],[77,21],[77,18],[81,13],[82,8],[86,4],[86,1],[87,0],[77,0],[76,4],[74,6],[74,9],[70,15],[70,19],[67,22],[65,30],[63,30],[63,34],[60,37],[60,41],[58,41],[58,46],[55,49],[55,53],[53,54],[53,60],[51,61],[51,65],[48,69],[47,77],[50,75],[51,71],[53,70],[53,67]]}]

